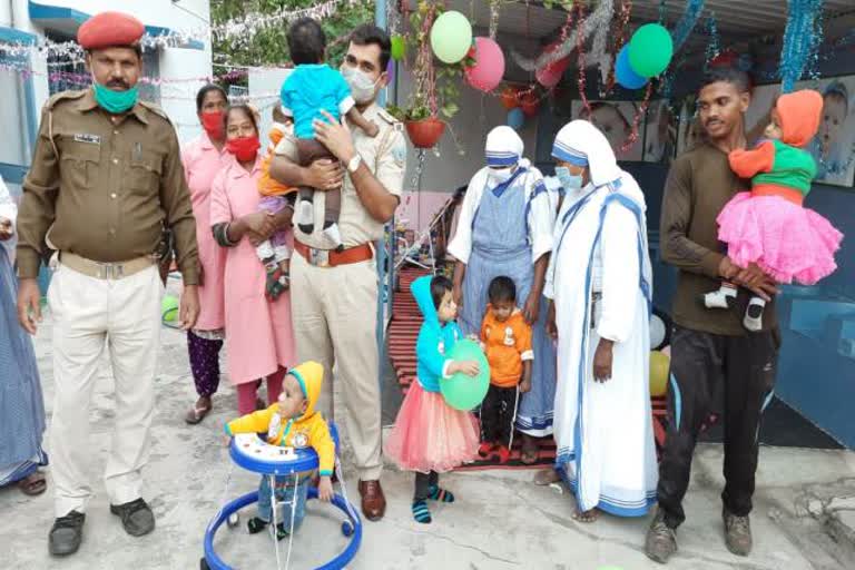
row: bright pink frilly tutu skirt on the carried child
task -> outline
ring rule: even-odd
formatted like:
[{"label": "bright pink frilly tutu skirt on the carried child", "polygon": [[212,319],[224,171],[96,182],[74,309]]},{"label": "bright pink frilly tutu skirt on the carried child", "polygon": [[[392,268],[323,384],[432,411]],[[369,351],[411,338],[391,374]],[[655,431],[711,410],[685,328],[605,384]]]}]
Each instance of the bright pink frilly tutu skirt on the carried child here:
[{"label": "bright pink frilly tutu skirt on the carried child", "polygon": [[718,238],[741,267],[756,263],[778,283],[814,285],[834,273],[843,234],[816,212],[778,196],[734,196],[718,215]]}]

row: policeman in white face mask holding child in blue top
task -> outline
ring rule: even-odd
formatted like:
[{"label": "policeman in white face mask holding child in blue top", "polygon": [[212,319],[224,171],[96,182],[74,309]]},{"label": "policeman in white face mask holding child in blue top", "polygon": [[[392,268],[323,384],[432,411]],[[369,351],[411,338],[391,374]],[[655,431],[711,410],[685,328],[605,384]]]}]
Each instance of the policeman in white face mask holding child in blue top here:
[{"label": "policeman in white face mask holding child in blue top", "polygon": [[[383,237],[384,224],[399,205],[406,163],[402,125],[381,109],[375,99],[386,86],[390,39],[381,29],[365,24],[351,36],[343,66],[345,78],[363,116],[380,127],[375,138],[346,125],[315,124],[315,136],[338,158],[338,164],[296,165],[296,146],[285,137],[277,147],[271,174],[284,184],[317,189],[342,188],[338,218],[344,249],[333,249],[323,228],[322,210],[315,208],[315,232],[306,235],[295,226],[291,262],[291,306],[297,360],[324,364],[336,382],[347,410],[347,436],[360,473],[362,510],[379,520],[386,501],[380,485],[381,409],[376,342],[377,273],[373,242]],[[317,205],[324,200],[315,200]],[[332,383],[322,394],[323,411],[333,410]]]}]

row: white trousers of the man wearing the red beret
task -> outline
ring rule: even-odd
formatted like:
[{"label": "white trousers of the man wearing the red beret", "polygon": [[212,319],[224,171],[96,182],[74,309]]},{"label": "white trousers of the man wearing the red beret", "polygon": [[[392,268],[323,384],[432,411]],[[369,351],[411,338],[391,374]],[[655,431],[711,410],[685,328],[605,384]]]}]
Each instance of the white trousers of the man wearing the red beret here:
[{"label": "white trousers of the man wearing the red beret", "polygon": [[88,277],[61,263],[53,274],[48,303],[56,395],[49,441],[57,517],[83,512],[92,495],[89,409],[105,345],[116,400],[105,485],[111,504],[140,497],[155,409],[163,293],[155,266],[117,281]]}]

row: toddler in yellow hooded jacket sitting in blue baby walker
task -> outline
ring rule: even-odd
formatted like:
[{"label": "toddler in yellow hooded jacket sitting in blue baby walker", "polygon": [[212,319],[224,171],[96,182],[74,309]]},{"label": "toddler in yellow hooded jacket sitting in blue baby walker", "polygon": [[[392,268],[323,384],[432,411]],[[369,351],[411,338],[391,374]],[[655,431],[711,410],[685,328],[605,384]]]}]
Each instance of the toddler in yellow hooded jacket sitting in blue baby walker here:
[{"label": "toddler in yellow hooded jacket sitting in blue baby walker", "polygon": [[[333,497],[332,475],[335,468],[335,443],[330,435],[320,412],[315,412],[324,368],[317,362],[305,362],[292,368],[282,383],[279,400],[266,410],[244,415],[226,424],[226,434],[266,433],[267,443],[286,448],[313,448],[317,452],[321,480],[317,495],[322,501]],[[275,478],[277,502],[283,504],[283,520],[276,525],[276,535],[282,539],[292,525],[297,530],[305,517],[308,479],[312,473],[304,473],[295,481],[294,475]],[[293,504],[287,504],[293,503]],[[271,478],[262,476],[258,487],[258,515],[247,523],[250,533],[261,532],[271,523],[273,507],[271,502]]]}]

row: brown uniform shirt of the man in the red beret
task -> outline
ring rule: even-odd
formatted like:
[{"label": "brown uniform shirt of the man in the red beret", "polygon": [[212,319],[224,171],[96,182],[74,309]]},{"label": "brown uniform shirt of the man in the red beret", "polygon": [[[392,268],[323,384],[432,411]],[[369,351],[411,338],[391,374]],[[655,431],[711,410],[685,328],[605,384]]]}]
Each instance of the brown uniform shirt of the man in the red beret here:
[{"label": "brown uniform shirt of the man in the red beret", "polygon": [[91,89],[51,97],[23,181],[21,278],[38,275],[48,244],[100,263],[153,255],[166,225],[184,283],[196,285],[195,224],[178,138],[163,110],[138,102],[114,116]]}]

